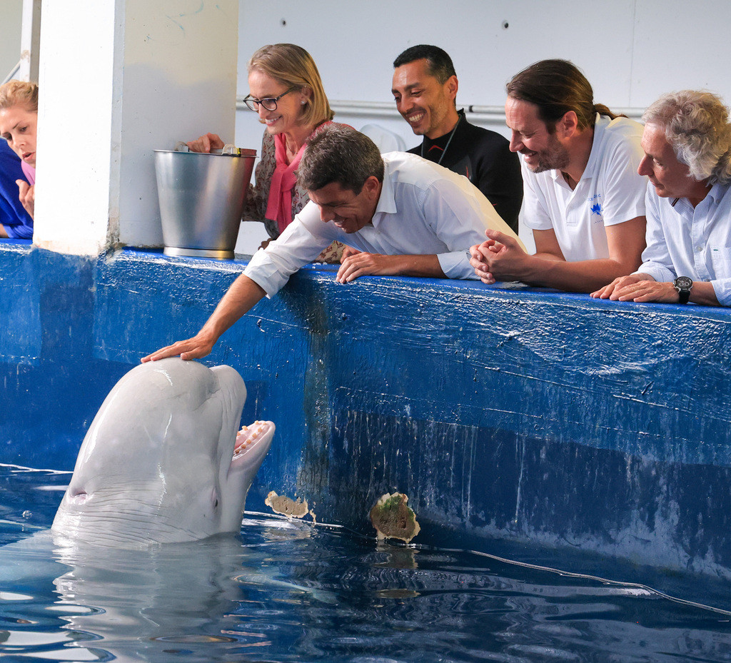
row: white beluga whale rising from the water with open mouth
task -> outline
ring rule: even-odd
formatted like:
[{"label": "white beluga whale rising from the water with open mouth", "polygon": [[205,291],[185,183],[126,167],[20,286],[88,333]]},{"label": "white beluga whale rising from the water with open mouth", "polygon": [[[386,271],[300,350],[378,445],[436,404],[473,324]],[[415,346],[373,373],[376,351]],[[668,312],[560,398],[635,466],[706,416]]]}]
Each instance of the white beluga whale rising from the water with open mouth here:
[{"label": "white beluga whale rising from the water with open mouth", "polygon": [[259,422],[237,442],[245,400],[230,366],[171,357],[132,368],[86,433],[53,534],[140,548],[238,531],[274,433]]}]

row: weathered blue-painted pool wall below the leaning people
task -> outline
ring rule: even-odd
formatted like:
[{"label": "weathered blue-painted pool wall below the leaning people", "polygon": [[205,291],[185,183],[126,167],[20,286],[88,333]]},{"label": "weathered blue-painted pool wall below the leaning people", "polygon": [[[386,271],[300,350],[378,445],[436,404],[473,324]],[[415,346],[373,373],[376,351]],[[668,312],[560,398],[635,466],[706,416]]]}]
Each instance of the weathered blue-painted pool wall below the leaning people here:
[{"label": "weathered blue-painted pool wall below the leaning people", "polygon": [[[72,469],[115,382],[245,264],[0,242],[0,462]],[[400,490],[417,541],[731,576],[730,311],[335,273],[301,270],[203,362],[243,376],[244,423],[277,425],[247,507],[275,490],[372,533]]]}]

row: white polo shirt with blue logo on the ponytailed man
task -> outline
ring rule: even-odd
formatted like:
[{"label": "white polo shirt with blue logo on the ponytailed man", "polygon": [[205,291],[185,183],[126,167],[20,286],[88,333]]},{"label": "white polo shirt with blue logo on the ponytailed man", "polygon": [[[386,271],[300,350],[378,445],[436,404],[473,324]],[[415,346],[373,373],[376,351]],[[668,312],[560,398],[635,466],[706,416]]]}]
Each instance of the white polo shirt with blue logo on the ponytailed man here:
[{"label": "white polo shirt with blue logo on the ponytailed man", "polygon": [[596,115],[594,142],[575,189],[560,170],[532,173],[523,167],[520,224],[556,232],[569,262],[609,257],[605,226],[645,216],[647,178],[637,175],[644,152],[643,126],[628,118]]}]

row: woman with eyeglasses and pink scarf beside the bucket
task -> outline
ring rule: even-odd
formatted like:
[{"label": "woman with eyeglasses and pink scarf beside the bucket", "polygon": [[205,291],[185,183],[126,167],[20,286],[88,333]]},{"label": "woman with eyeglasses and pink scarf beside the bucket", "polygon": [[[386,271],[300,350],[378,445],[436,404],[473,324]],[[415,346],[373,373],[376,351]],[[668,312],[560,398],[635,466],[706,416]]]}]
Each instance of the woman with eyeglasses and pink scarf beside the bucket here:
[{"label": "woman with eyeglasses and pink scarf beside the bucket", "polygon": [[[317,65],[310,54],[294,44],[263,46],[249,60],[249,95],[244,102],[265,124],[262,154],[249,189],[245,221],[263,221],[270,238],[276,239],[308,202],[298,186],[297,167],[310,137],[331,124],[333,111],[322,88]],[[216,134],[188,143],[195,152],[221,149]],[[337,245],[337,246],[336,246]],[[342,245],[333,243],[319,262],[338,262]]]}]

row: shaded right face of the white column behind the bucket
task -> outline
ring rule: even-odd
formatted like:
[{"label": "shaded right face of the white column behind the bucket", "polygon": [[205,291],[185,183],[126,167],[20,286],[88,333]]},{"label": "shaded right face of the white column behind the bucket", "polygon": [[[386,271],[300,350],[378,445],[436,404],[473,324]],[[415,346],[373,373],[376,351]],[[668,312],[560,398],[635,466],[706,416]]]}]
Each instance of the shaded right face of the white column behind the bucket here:
[{"label": "shaded right face of the white column behind the bucket", "polygon": [[154,150],[172,150],[209,121],[233,130],[237,10],[230,0],[125,0],[117,118],[123,244],[162,244]]}]

